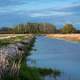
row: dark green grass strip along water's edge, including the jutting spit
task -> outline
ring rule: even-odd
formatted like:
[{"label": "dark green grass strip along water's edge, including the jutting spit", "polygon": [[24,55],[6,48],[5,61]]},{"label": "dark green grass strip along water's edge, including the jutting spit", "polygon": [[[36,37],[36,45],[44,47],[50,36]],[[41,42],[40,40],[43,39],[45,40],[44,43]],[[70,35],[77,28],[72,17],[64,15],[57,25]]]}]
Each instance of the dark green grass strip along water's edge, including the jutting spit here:
[{"label": "dark green grass strip along water's edge, including the jutting spit", "polygon": [[[33,40],[32,44],[27,47],[28,55],[30,55],[30,51],[34,47],[34,42],[35,39]],[[23,57],[21,64],[21,80],[43,80],[42,77],[48,75],[53,75],[53,78],[60,76],[61,72],[56,69],[28,67],[28,65],[26,64],[26,56]]]}]

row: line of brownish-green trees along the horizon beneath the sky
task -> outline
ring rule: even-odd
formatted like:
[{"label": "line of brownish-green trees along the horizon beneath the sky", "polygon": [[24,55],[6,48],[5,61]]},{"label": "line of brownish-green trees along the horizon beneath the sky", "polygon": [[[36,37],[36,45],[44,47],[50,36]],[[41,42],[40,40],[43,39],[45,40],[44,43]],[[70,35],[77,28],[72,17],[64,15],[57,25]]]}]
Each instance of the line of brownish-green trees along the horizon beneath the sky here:
[{"label": "line of brownish-green trees along the horizon beneath the sky", "polygon": [[80,30],[77,30],[72,24],[65,24],[63,28],[57,29],[55,25],[49,23],[27,23],[27,24],[18,24],[12,28],[2,27],[0,28],[0,33],[10,33],[10,34],[25,34],[25,33],[34,33],[34,34],[50,34],[50,33],[80,33]]}]

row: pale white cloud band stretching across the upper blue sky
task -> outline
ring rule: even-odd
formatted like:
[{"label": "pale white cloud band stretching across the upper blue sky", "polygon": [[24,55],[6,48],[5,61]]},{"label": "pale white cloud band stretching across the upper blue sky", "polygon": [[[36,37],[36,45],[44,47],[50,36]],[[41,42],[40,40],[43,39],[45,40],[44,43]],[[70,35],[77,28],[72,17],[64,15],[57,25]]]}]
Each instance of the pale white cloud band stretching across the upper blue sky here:
[{"label": "pale white cloud band stretching across the upper blue sky", "polygon": [[[30,5],[29,5],[30,4]],[[19,4],[19,5],[12,5],[12,6],[3,6],[0,7],[0,14],[18,14],[18,15],[26,15],[29,17],[49,17],[49,16],[72,16],[75,15],[73,12],[67,12],[63,11],[61,7],[58,6],[58,9],[52,8],[52,10],[49,10],[48,8],[45,9],[38,9],[36,6],[32,7],[31,3],[25,3],[25,4]],[[75,7],[79,6],[80,4],[69,4],[69,5],[63,5],[65,8]],[[60,11],[61,9],[61,11]]]}]

